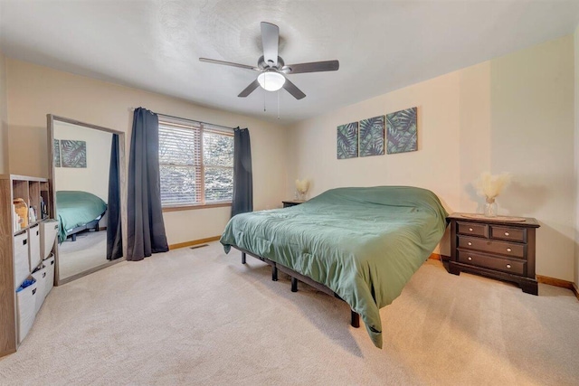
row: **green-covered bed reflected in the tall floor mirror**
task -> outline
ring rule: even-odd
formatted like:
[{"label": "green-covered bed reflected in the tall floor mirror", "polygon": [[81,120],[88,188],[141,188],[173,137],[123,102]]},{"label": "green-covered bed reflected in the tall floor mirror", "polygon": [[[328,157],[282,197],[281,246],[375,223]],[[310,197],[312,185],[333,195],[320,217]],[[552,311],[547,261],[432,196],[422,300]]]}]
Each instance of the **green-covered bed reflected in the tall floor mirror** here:
[{"label": "green-covered bed reflected in the tall floor mirror", "polygon": [[59,220],[59,242],[62,243],[69,236],[75,241],[77,233],[81,231],[99,231],[99,221],[107,212],[107,203],[88,192],[58,191],[56,212]]}]

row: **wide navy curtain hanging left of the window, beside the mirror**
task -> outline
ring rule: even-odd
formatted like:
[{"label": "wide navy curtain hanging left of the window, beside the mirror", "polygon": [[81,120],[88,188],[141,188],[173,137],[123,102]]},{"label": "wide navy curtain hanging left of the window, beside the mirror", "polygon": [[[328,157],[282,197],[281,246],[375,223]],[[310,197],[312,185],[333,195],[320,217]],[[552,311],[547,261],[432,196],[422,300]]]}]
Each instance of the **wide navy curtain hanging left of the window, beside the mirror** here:
[{"label": "wide navy curtain hanging left of the window, beside the mirror", "polygon": [[127,259],[137,261],[166,252],[159,174],[159,119],[135,109],[128,161]]}]

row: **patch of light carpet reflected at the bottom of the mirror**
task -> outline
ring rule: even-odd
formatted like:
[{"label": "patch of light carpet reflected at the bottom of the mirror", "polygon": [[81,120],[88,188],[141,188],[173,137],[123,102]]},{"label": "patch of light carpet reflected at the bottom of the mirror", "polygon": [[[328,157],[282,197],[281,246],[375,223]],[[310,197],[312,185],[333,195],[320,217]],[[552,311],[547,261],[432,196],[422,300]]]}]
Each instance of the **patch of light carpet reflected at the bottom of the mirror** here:
[{"label": "patch of light carpet reflected at the bottom of the mirror", "polygon": [[107,264],[107,231],[85,231],[59,244],[61,279]]}]

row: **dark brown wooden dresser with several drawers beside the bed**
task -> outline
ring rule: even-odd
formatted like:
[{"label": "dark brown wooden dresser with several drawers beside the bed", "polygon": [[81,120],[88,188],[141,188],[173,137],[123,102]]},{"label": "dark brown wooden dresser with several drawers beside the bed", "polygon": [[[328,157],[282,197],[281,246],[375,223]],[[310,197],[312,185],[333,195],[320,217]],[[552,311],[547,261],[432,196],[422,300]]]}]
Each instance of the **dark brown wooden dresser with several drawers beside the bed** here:
[{"label": "dark brown wooden dresser with several drawers beside the bed", "polygon": [[[469,218],[452,213],[449,271],[461,271],[517,283],[527,294],[537,295],[535,241],[539,223]],[[500,219],[500,217],[498,218]]]}]

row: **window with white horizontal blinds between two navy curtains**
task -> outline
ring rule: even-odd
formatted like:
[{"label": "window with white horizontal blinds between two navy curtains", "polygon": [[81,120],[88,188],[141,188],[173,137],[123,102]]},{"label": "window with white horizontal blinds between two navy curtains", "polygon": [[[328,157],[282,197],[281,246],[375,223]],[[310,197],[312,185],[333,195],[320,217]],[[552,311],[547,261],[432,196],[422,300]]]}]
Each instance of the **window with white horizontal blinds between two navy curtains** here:
[{"label": "window with white horizontal blinds between two navy curtains", "polygon": [[159,118],[159,168],[164,208],[231,203],[233,130]]}]

